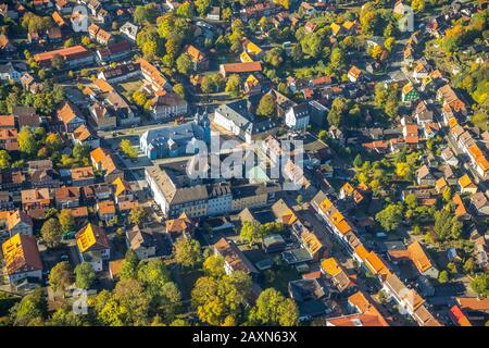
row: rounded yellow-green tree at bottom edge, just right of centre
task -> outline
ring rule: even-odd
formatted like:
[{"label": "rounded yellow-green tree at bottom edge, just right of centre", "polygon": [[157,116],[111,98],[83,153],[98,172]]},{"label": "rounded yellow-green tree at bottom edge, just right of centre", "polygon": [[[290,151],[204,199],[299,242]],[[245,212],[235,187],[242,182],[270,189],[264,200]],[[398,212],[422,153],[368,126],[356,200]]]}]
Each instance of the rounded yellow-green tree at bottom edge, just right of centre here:
[{"label": "rounded yellow-green tree at bottom edge, just right of centre", "polygon": [[299,323],[299,309],[292,299],[267,288],[260,294],[249,320],[259,325],[294,326]]}]

